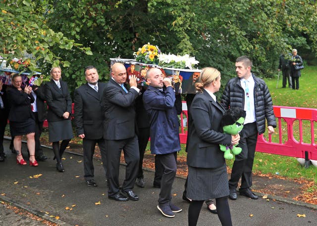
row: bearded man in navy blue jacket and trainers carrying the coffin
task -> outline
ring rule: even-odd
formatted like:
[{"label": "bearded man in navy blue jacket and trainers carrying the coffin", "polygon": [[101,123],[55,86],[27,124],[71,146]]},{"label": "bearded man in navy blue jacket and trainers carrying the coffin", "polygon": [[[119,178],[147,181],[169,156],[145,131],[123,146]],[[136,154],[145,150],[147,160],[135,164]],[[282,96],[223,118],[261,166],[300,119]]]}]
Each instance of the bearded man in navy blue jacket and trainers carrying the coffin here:
[{"label": "bearded man in navy blue jacket and trainers carrying the coffin", "polygon": [[[165,217],[175,217],[182,209],[171,203],[171,189],[176,176],[175,152],[179,151],[178,117],[175,107],[175,92],[171,80],[163,80],[158,68],[147,71],[149,88],[144,92],[144,107],[150,116],[151,153],[163,168],[159,193],[159,211]],[[166,89],[163,89],[165,85]]]}]

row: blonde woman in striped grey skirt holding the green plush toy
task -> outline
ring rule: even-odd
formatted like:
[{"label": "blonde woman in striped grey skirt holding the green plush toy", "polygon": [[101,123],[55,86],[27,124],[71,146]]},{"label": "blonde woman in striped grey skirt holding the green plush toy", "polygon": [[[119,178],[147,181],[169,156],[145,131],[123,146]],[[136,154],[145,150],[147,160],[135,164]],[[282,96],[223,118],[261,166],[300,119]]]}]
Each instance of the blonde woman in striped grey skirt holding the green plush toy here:
[{"label": "blonde woman in striped grey skirt holding the green plush toy", "polygon": [[208,67],[195,84],[199,91],[190,107],[187,165],[188,225],[196,226],[204,200],[215,198],[222,226],[232,226],[228,204],[229,185],[225,159],[219,144],[237,144],[240,136],[222,133],[220,125],[225,110],[213,93],[220,88],[220,72]]}]

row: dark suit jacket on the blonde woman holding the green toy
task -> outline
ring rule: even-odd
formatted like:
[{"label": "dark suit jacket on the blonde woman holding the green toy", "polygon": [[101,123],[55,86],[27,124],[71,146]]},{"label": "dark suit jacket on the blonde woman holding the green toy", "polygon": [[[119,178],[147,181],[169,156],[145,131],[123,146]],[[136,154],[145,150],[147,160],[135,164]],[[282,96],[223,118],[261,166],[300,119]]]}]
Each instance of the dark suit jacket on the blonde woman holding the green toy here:
[{"label": "dark suit jacket on the blonde woman holding the green toy", "polygon": [[223,134],[220,125],[224,111],[206,90],[196,94],[190,106],[188,166],[217,168],[224,164],[224,152],[220,150],[219,144],[231,144],[231,135]]}]

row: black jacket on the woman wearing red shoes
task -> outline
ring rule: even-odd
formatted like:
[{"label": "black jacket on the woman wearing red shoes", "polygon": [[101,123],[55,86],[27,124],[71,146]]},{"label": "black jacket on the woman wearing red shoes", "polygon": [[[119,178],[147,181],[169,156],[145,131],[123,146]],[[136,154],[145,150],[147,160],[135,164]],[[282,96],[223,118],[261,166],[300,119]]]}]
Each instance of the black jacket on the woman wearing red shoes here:
[{"label": "black jacket on the woman wearing red shoes", "polygon": [[10,102],[9,121],[24,122],[33,118],[31,103],[34,102],[32,94],[26,94],[23,90],[19,91],[15,87],[7,90],[8,100]]}]

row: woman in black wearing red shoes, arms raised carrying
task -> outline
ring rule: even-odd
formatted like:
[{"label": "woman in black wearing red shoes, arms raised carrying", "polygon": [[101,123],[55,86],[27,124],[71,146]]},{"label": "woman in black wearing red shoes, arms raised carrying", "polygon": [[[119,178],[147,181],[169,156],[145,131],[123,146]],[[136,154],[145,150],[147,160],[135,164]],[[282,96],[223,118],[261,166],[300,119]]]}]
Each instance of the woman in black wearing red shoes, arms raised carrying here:
[{"label": "woman in black wearing red shoes, arms raised carrying", "polygon": [[14,136],[13,145],[16,150],[16,163],[26,165],[22,156],[22,136],[26,135],[27,146],[30,153],[30,165],[38,166],[35,160],[35,121],[31,109],[31,103],[34,102],[34,97],[31,94],[32,88],[25,86],[21,88],[22,78],[19,74],[12,76],[13,87],[7,90],[8,100],[10,102],[9,121],[11,136]]}]

